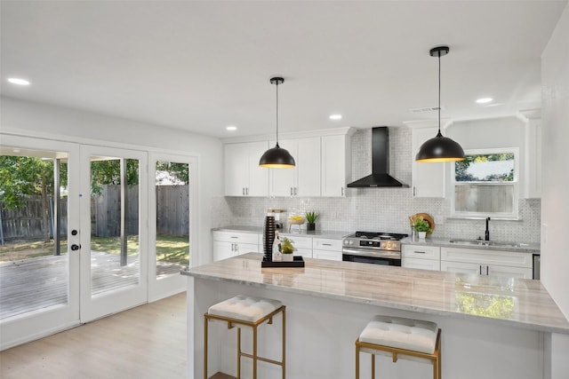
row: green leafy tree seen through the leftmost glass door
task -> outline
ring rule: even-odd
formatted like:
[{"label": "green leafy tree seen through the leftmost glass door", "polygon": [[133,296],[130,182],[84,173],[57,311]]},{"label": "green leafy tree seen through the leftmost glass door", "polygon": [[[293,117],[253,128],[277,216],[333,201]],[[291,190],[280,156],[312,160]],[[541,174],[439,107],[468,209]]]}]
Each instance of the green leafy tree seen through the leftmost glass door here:
[{"label": "green leafy tree seen through the leftmost glass door", "polygon": [[53,162],[28,156],[0,156],[0,193],[4,208],[17,209],[29,195],[42,197],[44,241],[50,241],[47,196],[53,193]]}]

